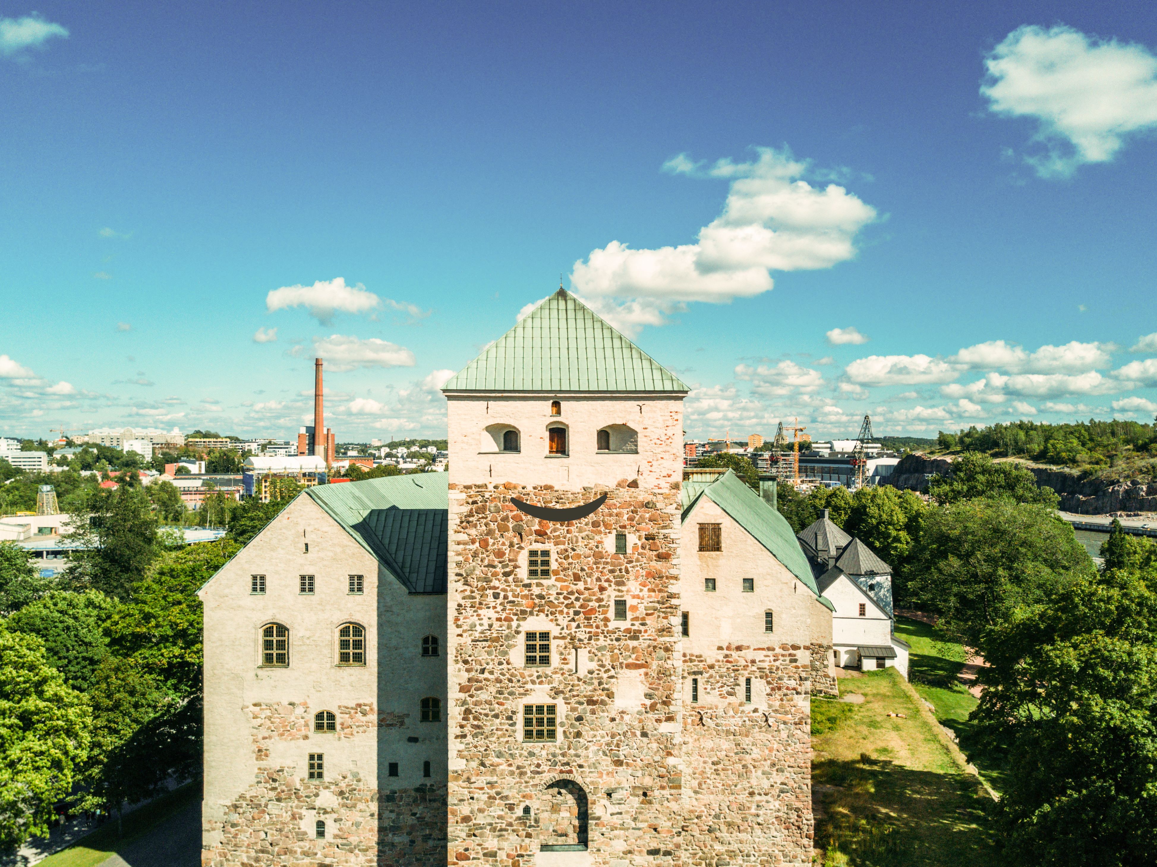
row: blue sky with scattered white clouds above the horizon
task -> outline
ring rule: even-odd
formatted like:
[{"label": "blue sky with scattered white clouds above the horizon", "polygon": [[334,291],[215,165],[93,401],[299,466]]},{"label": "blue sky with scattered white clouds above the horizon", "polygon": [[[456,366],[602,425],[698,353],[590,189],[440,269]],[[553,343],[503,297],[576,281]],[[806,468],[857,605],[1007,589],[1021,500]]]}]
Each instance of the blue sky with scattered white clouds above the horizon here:
[{"label": "blue sky with scattered white clouds above the horizon", "polygon": [[339,439],[443,435],[560,275],[691,436],[1157,410],[1145,3],[32,9],[6,433],[288,437],[319,353]]}]

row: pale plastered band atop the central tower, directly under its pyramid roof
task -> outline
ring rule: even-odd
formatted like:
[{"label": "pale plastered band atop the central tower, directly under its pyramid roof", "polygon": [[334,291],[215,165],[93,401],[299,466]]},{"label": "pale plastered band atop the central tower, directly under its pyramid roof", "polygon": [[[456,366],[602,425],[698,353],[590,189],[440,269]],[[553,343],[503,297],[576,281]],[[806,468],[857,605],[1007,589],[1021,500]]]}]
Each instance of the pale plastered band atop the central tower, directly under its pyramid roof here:
[{"label": "pale plastered band atop the central tower, directly under its pyramid roof", "polygon": [[[670,395],[592,397],[449,393],[450,483],[516,482],[575,490],[639,480],[641,488],[666,489],[683,479],[683,399]],[[551,415],[559,400],[561,414]],[[567,429],[567,455],[547,454],[547,429]],[[598,452],[598,431],[626,425],[638,433],[638,452]],[[515,428],[519,450],[498,447]],[[616,429],[612,446],[624,438]]]}]

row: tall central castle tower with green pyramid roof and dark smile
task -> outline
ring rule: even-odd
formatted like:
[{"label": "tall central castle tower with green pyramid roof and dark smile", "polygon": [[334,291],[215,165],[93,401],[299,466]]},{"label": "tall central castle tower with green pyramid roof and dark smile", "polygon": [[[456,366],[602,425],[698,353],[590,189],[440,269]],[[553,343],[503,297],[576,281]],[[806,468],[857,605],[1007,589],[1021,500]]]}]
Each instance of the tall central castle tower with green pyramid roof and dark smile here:
[{"label": "tall central castle tower with green pyramid roof and dark smile", "polygon": [[678,865],[687,386],[559,289],[443,391],[449,862]]}]

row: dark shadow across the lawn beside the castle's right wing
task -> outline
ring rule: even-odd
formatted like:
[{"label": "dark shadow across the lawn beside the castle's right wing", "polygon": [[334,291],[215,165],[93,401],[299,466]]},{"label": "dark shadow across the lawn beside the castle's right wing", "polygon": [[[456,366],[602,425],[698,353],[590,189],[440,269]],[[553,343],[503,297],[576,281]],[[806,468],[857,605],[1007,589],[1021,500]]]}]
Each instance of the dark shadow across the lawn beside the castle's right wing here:
[{"label": "dark shadow across the lawn beside the castle's right wing", "polygon": [[812,768],[816,847],[825,867],[996,865],[985,801],[959,775],[915,771],[867,754]]}]

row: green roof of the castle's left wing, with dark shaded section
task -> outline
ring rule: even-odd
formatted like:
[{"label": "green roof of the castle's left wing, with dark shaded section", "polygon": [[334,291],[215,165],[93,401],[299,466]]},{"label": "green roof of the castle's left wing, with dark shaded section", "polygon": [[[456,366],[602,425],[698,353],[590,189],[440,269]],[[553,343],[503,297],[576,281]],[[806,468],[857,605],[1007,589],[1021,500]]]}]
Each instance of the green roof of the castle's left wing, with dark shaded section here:
[{"label": "green roof of the castle's left wing, with dark shaded section", "polygon": [[445,593],[445,473],[320,484],[305,494],[411,593]]}]

